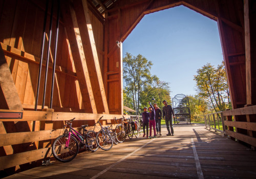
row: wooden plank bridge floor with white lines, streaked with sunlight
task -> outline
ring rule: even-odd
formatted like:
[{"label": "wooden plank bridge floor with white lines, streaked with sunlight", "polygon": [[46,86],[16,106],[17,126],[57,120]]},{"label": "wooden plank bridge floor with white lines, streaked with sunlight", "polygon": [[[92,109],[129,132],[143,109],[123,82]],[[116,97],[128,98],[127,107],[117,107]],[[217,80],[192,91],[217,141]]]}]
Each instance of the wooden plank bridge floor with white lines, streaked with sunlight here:
[{"label": "wooden plank bridge floor with white lines, streaked with sunlight", "polygon": [[110,151],[82,152],[68,163],[6,178],[256,178],[256,152],[203,124],[176,124],[175,136],[126,139]]}]

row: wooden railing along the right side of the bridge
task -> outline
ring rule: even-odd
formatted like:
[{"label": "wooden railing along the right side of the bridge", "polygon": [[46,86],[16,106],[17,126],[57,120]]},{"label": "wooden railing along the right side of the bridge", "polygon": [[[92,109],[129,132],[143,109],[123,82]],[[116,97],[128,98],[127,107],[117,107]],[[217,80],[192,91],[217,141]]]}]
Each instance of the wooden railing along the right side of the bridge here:
[{"label": "wooden railing along the right side of the bridge", "polygon": [[[222,132],[233,140],[250,144],[255,149],[256,105],[207,114],[204,119],[206,127]],[[219,121],[223,125],[223,130],[220,130]]]}]

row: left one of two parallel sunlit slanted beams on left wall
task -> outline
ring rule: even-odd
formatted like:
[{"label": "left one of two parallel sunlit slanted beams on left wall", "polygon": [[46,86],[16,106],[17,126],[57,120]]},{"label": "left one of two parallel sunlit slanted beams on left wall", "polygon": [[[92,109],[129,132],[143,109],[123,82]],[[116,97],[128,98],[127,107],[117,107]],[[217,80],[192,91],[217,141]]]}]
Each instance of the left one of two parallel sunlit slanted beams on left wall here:
[{"label": "left one of two parallel sunlit slanted beams on left wall", "polygon": [[70,48],[74,59],[77,78],[82,94],[84,108],[87,112],[97,113],[91,79],[87,67],[86,57],[84,55],[84,47],[81,41],[80,30],[74,9],[69,3],[62,5],[62,15],[65,19],[65,26],[69,37]]}]

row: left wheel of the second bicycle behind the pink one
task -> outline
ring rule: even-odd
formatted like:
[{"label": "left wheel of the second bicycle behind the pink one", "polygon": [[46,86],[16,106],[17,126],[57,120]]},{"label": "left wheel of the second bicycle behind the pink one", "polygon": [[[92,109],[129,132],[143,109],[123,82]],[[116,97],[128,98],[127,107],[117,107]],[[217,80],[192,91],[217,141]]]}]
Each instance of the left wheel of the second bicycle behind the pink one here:
[{"label": "left wheel of the second bicycle behind the pink one", "polygon": [[102,150],[110,150],[113,147],[113,140],[109,133],[105,132],[103,135],[103,131],[100,130],[96,135],[96,142],[99,148]]}]

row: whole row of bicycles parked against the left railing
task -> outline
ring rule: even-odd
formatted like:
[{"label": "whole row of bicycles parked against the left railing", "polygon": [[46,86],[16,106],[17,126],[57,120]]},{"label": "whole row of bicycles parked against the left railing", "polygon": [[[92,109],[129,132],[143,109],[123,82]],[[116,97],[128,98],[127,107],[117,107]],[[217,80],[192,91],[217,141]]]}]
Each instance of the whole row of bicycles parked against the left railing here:
[{"label": "whole row of bicycles parked against the left railing", "polygon": [[[103,117],[103,116],[102,116]],[[113,131],[113,125],[102,126],[100,120],[94,124],[94,129],[87,130],[88,125],[82,125],[79,133],[72,127],[75,118],[67,121],[63,127],[63,134],[55,139],[52,145],[52,154],[60,162],[72,161],[80,148],[95,152],[98,148],[110,150],[113,144],[122,143],[127,137],[136,138],[142,132],[142,121],[137,116],[131,118],[114,119],[118,125]],[[67,127],[69,128],[67,129]],[[98,128],[98,132],[95,129]]]}]

